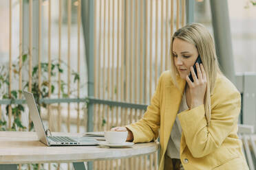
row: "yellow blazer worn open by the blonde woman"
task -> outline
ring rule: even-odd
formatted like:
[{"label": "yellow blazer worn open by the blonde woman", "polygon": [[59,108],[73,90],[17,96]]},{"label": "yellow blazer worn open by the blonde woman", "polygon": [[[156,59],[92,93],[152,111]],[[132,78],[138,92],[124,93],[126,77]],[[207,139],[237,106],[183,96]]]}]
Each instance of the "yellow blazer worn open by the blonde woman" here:
[{"label": "yellow blazer worn open by the blonde woman", "polygon": [[[178,78],[182,91],[185,80]],[[134,143],[156,140],[160,131],[159,169],[164,169],[164,154],[171,128],[178,114],[182,93],[171,81],[170,71],[160,76],[151,104],[140,121],[127,125],[134,134]],[[204,105],[178,114],[182,126],[180,160],[186,170],[248,169],[242,142],[237,136],[237,119],[241,97],[224,75],[217,75],[211,95],[211,123],[206,125]]]}]

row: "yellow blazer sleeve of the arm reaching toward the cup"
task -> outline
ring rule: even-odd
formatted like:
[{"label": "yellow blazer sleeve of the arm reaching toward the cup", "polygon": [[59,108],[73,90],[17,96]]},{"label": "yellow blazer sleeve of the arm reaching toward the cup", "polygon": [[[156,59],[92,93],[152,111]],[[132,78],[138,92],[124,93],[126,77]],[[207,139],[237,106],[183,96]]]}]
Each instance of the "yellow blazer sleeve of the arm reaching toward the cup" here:
[{"label": "yellow blazer sleeve of the arm reaching toward the cup", "polygon": [[162,81],[163,75],[161,75],[160,79],[158,80],[158,86],[153,94],[153,97],[151,98],[151,104],[147,107],[147,111],[143,115],[142,119],[136,123],[126,126],[134,135],[134,143],[155,141],[156,138],[158,138],[158,130],[160,127],[160,97],[162,96]]}]

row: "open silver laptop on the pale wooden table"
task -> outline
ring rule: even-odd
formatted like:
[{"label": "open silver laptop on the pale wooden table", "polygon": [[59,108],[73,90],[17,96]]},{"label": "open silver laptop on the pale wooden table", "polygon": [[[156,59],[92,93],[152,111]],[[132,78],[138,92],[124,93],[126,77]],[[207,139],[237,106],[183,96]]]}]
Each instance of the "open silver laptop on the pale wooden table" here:
[{"label": "open silver laptop on the pale wooden table", "polygon": [[98,145],[98,141],[96,139],[85,136],[47,136],[45,128],[43,127],[43,122],[39,115],[39,110],[36,107],[36,101],[34,101],[34,95],[25,90],[23,90],[23,94],[25,95],[25,99],[28,103],[28,108],[30,110],[36,134],[39,137],[39,141],[47,146]]}]

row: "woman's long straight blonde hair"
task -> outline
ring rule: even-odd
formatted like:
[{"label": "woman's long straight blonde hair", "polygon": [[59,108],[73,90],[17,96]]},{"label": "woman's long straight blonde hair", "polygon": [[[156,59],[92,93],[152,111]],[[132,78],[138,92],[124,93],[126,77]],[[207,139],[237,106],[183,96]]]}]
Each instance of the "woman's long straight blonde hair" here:
[{"label": "woman's long straight blonde hair", "polygon": [[[211,94],[215,85],[217,73],[221,73],[217,56],[215,52],[214,40],[209,31],[199,23],[186,25],[178,29],[171,40],[171,51],[173,51],[173,40],[180,38],[186,42],[195,45],[201,57],[204,71],[206,72],[207,86],[204,96],[204,110],[206,114],[207,125],[211,121]],[[175,86],[177,83],[178,70],[174,63],[173,53],[171,52],[171,77]]]}]

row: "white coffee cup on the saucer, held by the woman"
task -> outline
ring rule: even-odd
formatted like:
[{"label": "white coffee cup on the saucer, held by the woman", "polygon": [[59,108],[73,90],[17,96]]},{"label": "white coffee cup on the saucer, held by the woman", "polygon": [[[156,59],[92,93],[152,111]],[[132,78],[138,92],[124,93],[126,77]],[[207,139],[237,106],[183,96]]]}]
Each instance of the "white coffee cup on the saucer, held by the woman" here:
[{"label": "white coffee cup on the saucer, held by the woman", "polygon": [[104,132],[105,139],[107,143],[110,144],[122,144],[125,143],[127,139],[128,131],[117,132],[117,131],[107,131]]}]

